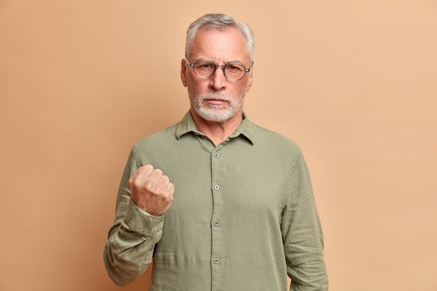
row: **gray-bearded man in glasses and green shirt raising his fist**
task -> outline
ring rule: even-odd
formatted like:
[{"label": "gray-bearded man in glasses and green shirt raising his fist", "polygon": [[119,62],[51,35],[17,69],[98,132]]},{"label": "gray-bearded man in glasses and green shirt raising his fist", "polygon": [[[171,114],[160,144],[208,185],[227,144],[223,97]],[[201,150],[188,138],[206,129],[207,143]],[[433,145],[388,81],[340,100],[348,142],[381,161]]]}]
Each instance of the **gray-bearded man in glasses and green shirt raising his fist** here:
[{"label": "gray-bearded man in glasses and green shirt raising his fist", "polygon": [[327,290],[323,234],[299,147],[252,124],[253,33],[209,14],[188,28],[190,110],[134,145],[104,260],[118,285],[151,263],[152,291]]}]

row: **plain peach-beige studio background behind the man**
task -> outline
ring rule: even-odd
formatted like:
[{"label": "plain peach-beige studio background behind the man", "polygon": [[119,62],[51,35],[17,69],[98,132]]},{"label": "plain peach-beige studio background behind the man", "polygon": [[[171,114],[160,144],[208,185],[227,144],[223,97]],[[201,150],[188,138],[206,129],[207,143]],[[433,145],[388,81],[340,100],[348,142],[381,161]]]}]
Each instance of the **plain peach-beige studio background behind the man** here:
[{"label": "plain peach-beige studio background behind the man", "polygon": [[188,110],[186,27],[212,12],[255,31],[245,110],[304,151],[330,290],[436,291],[431,0],[0,1],[0,290],[121,290],[102,259],[121,172]]}]

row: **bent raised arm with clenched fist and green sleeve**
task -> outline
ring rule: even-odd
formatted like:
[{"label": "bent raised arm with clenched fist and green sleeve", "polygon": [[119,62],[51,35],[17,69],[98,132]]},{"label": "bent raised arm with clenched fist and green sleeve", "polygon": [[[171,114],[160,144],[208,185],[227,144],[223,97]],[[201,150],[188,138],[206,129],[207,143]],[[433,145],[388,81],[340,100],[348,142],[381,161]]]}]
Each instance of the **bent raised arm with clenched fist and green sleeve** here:
[{"label": "bent raised arm with clenched fist and green sleeve", "polygon": [[[163,191],[169,186],[168,191]],[[141,167],[135,148],[131,151],[103,253],[108,274],[117,285],[131,283],[151,263],[154,246],[161,239],[165,211],[171,204],[172,187],[159,170],[150,165]],[[156,204],[159,207],[146,211]]]}]

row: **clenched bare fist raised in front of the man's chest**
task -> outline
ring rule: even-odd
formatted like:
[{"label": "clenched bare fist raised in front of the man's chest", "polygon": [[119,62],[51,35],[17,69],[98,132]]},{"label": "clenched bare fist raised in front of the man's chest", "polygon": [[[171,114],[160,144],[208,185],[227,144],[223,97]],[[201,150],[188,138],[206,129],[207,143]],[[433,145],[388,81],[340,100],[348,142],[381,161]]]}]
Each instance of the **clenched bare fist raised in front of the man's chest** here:
[{"label": "clenched bare fist raised in front of the man's chest", "polygon": [[152,216],[161,216],[170,209],[175,185],[152,165],[140,167],[129,179],[132,200]]}]

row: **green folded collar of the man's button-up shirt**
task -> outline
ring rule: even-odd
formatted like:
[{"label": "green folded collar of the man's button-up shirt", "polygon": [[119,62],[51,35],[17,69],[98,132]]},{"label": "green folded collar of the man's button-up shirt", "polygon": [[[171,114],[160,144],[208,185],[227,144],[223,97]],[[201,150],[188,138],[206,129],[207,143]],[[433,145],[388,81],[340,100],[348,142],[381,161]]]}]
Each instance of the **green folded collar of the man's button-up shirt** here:
[{"label": "green folded collar of the man's button-up shirt", "polygon": [[[243,122],[239,125],[237,130],[235,130],[235,133],[232,133],[230,135],[230,138],[238,137],[239,135],[242,135],[246,137],[246,139],[253,145],[255,144],[255,133],[253,130],[254,124],[249,120],[246,113],[243,112]],[[176,138],[179,140],[182,135],[185,135],[186,133],[200,133],[197,128],[195,127],[193,117],[191,116],[191,112],[187,112],[185,116],[182,118],[181,121],[179,121],[179,124],[177,124],[176,128]],[[200,133],[202,134],[202,133]]]}]

